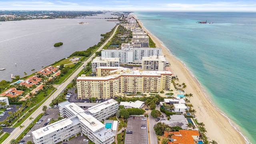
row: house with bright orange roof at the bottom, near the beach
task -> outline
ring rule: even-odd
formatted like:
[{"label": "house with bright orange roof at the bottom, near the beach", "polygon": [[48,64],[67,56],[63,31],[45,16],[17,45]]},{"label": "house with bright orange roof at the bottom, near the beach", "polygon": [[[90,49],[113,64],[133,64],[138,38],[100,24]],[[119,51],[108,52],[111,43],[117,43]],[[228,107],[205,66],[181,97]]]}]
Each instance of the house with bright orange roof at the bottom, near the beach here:
[{"label": "house with bright orange roof at the bottom, near the beach", "polygon": [[197,130],[179,130],[178,132],[166,132],[164,136],[168,137],[170,134],[171,142],[168,144],[198,144],[199,133]]}]

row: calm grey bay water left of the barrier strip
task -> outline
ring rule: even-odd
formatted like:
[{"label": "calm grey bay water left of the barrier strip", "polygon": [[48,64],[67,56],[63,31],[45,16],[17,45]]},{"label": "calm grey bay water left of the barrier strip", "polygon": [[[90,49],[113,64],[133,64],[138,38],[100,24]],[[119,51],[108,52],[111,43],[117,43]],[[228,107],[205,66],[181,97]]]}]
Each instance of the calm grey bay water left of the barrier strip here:
[{"label": "calm grey bay water left of the barrier strip", "polygon": [[[110,13],[94,17],[112,17]],[[78,24],[87,22],[88,24]],[[0,22],[0,80],[11,74],[24,76],[38,71],[75,51],[86,50],[100,41],[116,22],[104,19],[45,19]],[[56,42],[63,42],[54,47]],[[16,63],[16,66],[15,66]]]}]

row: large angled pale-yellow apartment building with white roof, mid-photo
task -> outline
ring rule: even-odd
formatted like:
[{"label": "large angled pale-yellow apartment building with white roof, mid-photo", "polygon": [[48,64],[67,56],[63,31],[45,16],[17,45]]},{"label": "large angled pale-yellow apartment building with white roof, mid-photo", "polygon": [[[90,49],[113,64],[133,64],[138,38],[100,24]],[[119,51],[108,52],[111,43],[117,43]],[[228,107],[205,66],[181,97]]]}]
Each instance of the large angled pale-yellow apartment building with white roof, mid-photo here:
[{"label": "large angled pale-yellow apartment building with white roof, mid-photo", "polygon": [[[97,69],[103,70],[103,68]],[[105,71],[104,71],[105,72]],[[172,73],[170,71],[116,71],[109,76],[80,76],[77,78],[79,99],[112,98],[122,93],[160,92],[170,88]]]}]

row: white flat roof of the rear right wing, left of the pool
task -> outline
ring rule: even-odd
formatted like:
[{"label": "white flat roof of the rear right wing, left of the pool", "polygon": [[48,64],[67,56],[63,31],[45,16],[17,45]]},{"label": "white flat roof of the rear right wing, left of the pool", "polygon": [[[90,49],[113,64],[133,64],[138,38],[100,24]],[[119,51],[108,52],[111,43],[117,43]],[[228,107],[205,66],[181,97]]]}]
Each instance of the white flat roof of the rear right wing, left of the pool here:
[{"label": "white flat roof of the rear right wing, left of the pool", "polygon": [[109,107],[109,106],[112,106],[114,104],[117,104],[118,102],[113,100],[113,99],[110,99],[110,100],[107,100],[105,102],[102,102],[100,104],[97,104],[96,106],[92,106],[90,108],[88,108],[88,111],[91,113],[91,114],[95,114],[97,112],[100,112],[101,110]]}]

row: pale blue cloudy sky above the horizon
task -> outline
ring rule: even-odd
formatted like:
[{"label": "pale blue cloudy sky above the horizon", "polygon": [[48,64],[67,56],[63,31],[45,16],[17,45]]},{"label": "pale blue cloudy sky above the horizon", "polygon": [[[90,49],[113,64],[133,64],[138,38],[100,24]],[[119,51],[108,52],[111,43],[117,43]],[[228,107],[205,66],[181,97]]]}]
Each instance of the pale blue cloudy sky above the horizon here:
[{"label": "pale blue cloudy sky above the horizon", "polygon": [[0,10],[256,12],[256,0],[0,0]]}]

